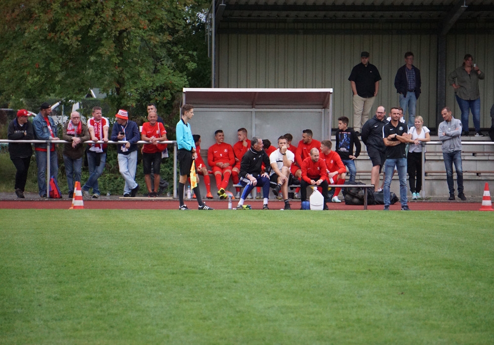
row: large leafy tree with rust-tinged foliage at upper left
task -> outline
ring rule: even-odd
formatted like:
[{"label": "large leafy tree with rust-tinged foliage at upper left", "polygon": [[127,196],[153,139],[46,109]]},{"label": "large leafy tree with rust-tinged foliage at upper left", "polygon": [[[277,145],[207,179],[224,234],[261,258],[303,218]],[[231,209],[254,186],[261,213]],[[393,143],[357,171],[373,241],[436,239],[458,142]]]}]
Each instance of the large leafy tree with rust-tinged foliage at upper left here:
[{"label": "large leafy tree with rust-tinged foliage at upper left", "polygon": [[184,44],[204,44],[200,1],[3,0],[0,101],[78,100],[97,87],[116,109],[172,104],[206,59]]}]

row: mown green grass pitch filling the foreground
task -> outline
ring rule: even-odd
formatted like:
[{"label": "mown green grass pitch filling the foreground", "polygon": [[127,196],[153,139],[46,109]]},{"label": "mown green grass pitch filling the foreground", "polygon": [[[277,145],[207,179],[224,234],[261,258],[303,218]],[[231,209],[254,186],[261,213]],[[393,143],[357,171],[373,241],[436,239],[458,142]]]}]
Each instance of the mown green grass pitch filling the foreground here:
[{"label": "mown green grass pitch filling the foreground", "polygon": [[0,343],[493,344],[492,213],[0,210]]}]

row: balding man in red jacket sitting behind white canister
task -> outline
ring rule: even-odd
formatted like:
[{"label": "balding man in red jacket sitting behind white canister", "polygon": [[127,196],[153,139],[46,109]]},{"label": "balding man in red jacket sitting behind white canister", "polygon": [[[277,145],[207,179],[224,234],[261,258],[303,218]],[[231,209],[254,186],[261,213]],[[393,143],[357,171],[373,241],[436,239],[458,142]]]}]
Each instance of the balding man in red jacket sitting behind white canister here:
[{"label": "balding man in red jacket sitting behind white canister", "polygon": [[329,202],[327,171],[326,163],[324,160],[319,159],[319,150],[315,147],[312,148],[310,150],[310,156],[302,162],[302,179],[300,181],[301,201],[307,201],[308,186],[320,186],[323,189],[324,209],[329,209],[326,205]]}]

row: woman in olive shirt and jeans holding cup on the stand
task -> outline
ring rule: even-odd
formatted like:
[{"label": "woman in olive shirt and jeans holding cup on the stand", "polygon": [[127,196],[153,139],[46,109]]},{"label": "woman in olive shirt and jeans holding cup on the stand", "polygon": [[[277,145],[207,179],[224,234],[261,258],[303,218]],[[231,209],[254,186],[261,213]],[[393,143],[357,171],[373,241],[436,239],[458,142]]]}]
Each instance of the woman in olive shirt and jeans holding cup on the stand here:
[{"label": "woman in olive shirt and jeans holding cup on the stand", "polygon": [[485,74],[473,63],[473,57],[466,54],[463,65],[450,73],[448,81],[454,89],[454,97],[461,110],[462,135],[468,136],[468,115],[472,110],[475,137],[483,137],[480,131],[480,91],[479,79],[484,79]]}]

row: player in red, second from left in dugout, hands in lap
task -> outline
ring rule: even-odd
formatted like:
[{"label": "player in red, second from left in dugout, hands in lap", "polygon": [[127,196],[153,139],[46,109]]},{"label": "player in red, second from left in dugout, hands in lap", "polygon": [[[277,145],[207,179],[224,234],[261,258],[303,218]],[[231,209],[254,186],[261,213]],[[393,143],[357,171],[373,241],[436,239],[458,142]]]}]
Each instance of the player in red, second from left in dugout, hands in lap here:
[{"label": "player in red, second from left in dugout, hands in lap", "polygon": [[[218,187],[218,196],[220,199],[228,198],[225,192],[232,168],[235,165],[235,155],[233,147],[226,142],[225,134],[222,130],[214,132],[216,143],[212,144],[207,150],[207,164],[212,168],[214,178],[216,179],[216,187]],[[223,177],[223,179],[221,179]]]}]

